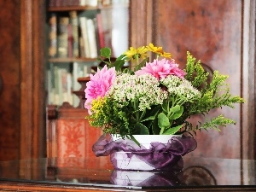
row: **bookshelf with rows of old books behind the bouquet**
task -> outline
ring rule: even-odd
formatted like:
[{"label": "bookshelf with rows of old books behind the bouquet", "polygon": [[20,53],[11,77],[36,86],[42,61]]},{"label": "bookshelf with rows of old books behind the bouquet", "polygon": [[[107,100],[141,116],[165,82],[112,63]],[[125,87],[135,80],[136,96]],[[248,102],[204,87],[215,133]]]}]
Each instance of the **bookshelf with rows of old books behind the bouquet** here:
[{"label": "bookshelf with rows of old books behind the bouquet", "polygon": [[49,0],[47,104],[81,108],[79,79],[94,73],[100,49],[113,56],[128,49],[129,7],[129,0]]}]

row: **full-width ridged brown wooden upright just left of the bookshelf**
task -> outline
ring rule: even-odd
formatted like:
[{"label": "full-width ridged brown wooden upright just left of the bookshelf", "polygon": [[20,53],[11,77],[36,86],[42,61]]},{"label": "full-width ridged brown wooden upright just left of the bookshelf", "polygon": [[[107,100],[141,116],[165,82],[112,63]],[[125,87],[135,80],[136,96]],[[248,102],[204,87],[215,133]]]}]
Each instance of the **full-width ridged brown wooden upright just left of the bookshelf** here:
[{"label": "full-width ridged brown wooden upright just left of the bookshelf", "polygon": [[45,156],[44,0],[20,2],[20,159]]}]

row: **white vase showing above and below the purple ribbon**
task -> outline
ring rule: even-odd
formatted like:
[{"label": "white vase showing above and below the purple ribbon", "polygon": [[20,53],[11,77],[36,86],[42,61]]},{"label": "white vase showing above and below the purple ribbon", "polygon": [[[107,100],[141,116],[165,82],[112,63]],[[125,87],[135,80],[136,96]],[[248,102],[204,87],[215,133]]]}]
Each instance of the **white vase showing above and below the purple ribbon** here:
[{"label": "white vase showing above and below the purple ribbon", "polygon": [[[141,144],[141,149],[151,147],[150,143],[159,142],[167,144],[172,137],[181,137],[177,135],[134,135],[137,142]],[[123,140],[119,135],[112,135],[113,142],[115,143],[126,143],[128,146],[134,146],[134,142],[130,139],[125,138]],[[140,149],[137,146],[138,149]],[[138,171],[153,171],[155,170],[154,166],[148,165],[147,162],[140,160],[136,154],[132,154],[131,157],[128,157],[129,152],[118,151],[114,152],[111,159],[116,160],[113,165],[116,169],[120,170],[138,170]]]}]

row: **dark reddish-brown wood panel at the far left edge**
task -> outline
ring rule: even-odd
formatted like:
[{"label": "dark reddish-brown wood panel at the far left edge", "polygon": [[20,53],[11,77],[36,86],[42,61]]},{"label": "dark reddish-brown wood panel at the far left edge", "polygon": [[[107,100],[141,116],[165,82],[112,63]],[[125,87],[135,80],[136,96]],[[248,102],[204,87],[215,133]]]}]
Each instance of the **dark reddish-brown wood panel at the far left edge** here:
[{"label": "dark reddish-brown wood panel at the far left edge", "polygon": [[0,8],[0,160],[12,160],[20,153],[20,1]]}]

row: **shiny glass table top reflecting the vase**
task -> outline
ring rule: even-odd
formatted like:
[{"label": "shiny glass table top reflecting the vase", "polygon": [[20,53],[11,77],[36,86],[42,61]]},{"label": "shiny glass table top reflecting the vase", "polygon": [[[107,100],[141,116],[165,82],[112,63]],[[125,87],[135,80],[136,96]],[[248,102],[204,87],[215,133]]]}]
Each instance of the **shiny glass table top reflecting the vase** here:
[{"label": "shiny glass table top reflecting the vase", "polygon": [[129,189],[195,186],[254,188],[255,166],[255,160],[183,157],[182,170],[138,172],[114,170],[109,157],[42,158],[0,162],[0,181]]}]

